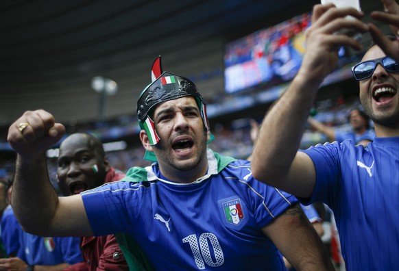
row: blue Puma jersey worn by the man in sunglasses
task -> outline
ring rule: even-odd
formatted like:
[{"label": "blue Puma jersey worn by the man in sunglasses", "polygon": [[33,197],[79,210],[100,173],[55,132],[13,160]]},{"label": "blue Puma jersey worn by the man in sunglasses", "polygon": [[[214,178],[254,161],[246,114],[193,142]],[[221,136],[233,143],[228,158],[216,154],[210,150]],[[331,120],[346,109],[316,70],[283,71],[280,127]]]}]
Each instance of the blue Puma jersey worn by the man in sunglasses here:
[{"label": "blue Puma jersey worn by the man in sunglasses", "polygon": [[333,209],[347,270],[398,270],[399,138],[375,138],[367,148],[346,140],[304,152],[317,174],[310,202]]}]

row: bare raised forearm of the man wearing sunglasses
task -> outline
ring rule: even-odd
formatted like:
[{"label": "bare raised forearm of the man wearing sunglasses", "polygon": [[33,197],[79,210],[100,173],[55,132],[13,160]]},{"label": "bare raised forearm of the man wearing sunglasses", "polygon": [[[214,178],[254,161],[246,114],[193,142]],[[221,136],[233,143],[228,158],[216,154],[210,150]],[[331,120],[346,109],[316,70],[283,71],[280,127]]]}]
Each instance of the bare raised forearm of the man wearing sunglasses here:
[{"label": "bare raised forearm of the man wearing sunglasses", "polygon": [[278,181],[288,172],[298,151],[304,125],[320,80],[295,77],[287,91],[266,114],[252,155],[256,179]]}]

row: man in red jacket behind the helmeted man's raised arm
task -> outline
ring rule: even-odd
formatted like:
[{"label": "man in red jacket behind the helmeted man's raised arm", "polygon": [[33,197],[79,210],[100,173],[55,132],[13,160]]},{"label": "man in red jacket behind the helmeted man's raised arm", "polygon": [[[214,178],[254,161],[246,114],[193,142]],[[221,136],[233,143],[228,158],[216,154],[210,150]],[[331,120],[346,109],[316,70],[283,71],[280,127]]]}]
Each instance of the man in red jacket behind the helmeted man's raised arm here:
[{"label": "man in red jacket behind the helmeted man's raised arm", "polygon": [[[79,194],[125,177],[108,162],[101,140],[89,133],[73,133],[62,142],[57,176],[64,196]],[[81,248],[84,262],[70,266],[67,270],[129,270],[113,234],[82,237]],[[135,256],[134,253],[138,253],[138,249],[130,252]],[[145,263],[139,259],[145,256],[140,257],[134,258],[133,264],[138,270],[143,270]]]}]

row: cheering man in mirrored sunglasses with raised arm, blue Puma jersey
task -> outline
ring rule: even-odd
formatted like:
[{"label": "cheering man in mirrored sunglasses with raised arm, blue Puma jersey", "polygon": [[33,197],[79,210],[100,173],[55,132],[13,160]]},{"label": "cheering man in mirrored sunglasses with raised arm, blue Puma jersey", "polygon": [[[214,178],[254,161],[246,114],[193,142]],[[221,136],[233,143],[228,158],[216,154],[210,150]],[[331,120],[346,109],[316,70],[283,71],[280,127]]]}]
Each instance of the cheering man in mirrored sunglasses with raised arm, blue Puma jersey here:
[{"label": "cheering man in mirrored sunglasses with raised arm, blue Puma jersey", "polygon": [[[385,12],[399,18],[395,1],[383,3]],[[376,33],[374,25],[359,20],[362,16],[352,8],[315,6],[302,66],[265,116],[252,155],[252,174],[304,204],[322,201],[333,209],[346,270],[398,270],[399,51],[389,50],[398,47],[397,30],[390,44],[376,40],[386,42],[385,51],[372,46],[352,68],[361,104],[374,121],[374,142],[364,147],[346,140],[298,151],[317,90],[337,66],[337,48],[361,49],[359,41],[337,31]]]}]

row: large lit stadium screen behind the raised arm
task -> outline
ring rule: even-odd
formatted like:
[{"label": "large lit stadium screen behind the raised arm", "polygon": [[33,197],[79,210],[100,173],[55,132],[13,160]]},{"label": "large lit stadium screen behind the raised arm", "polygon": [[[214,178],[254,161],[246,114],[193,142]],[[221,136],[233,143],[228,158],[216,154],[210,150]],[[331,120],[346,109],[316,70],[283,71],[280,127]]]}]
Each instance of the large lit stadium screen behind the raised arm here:
[{"label": "large lit stadium screen behind the raised arm", "polygon": [[[272,27],[258,30],[224,48],[224,84],[228,93],[271,88],[293,79],[305,51],[305,30],[311,25],[306,12]],[[346,59],[339,50],[339,65]]]}]

